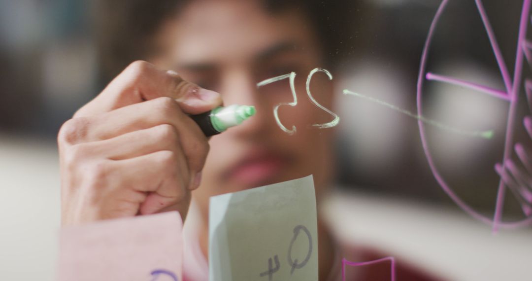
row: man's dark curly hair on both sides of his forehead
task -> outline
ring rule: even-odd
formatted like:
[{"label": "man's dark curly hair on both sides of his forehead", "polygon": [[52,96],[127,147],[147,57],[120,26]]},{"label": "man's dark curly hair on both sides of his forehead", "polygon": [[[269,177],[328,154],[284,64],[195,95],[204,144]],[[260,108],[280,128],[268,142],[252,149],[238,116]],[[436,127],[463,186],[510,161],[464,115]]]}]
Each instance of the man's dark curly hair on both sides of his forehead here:
[{"label": "man's dark curly hair on both sides of his forehead", "polygon": [[[96,2],[96,39],[102,82],[107,82],[130,62],[146,60],[154,51],[152,37],[160,25],[193,0],[100,0]],[[264,9],[277,13],[286,9],[303,11],[322,43],[327,67],[352,53],[348,36],[356,18],[354,2],[318,0],[261,0]]]}]

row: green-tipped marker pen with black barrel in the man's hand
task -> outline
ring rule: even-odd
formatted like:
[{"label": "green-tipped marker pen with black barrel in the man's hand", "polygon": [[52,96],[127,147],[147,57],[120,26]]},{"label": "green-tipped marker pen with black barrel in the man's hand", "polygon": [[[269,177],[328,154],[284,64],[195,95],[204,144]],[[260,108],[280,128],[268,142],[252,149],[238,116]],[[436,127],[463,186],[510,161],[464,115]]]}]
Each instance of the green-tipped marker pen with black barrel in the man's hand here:
[{"label": "green-tipped marker pen with black barrel in the man's hand", "polygon": [[191,115],[190,118],[200,126],[205,136],[210,137],[239,125],[254,114],[254,106],[233,104],[225,107],[219,106],[202,114]]}]

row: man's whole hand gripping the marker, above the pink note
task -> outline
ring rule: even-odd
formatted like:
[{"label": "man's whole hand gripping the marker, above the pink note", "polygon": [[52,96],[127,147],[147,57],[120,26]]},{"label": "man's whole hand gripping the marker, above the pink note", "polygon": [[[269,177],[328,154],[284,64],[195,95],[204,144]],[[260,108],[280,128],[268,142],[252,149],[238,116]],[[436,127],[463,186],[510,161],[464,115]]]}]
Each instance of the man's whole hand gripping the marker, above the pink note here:
[{"label": "man's whole hand gripping the marker, above the pink note", "polygon": [[177,210],[186,217],[209,144],[186,114],[221,105],[218,93],[137,61],[64,123],[62,223]]}]

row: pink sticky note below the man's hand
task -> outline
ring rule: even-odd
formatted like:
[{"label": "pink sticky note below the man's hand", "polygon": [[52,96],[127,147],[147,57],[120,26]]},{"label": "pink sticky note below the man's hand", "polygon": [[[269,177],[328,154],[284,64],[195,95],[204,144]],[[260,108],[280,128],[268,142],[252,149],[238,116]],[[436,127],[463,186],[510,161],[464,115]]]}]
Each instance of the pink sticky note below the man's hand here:
[{"label": "pink sticky note below the man's hand", "polygon": [[61,229],[59,281],[181,281],[178,212]]}]

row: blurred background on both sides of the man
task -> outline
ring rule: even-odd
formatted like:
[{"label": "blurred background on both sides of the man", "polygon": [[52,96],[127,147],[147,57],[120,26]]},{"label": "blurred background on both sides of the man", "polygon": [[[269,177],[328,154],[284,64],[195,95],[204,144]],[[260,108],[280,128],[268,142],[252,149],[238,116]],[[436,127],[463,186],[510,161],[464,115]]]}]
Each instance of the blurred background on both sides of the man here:
[{"label": "blurred background on both sides of the man", "polygon": [[[391,249],[454,280],[532,278],[530,228],[492,235],[461,211],[429,169],[417,120],[342,95],[350,89],[416,112],[423,44],[439,0],[359,0],[337,19],[336,112],[341,118],[339,191],[328,212],[345,239]],[[513,72],[521,1],[483,1]],[[356,5],[355,5],[356,4]],[[324,10],[327,11],[327,10]],[[53,280],[60,225],[61,124],[109,82],[92,1],[0,0],[0,279]],[[530,37],[530,36],[529,36]],[[427,71],[504,89],[473,0],[451,0],[429,48]],[[523,77],[530,77],[526,65]],[[440,174],[466,203],[493,217],[508,103],[470,89],[425,80],[428,118],[493,139],[427,127]],[[521,96],[525,96],[521,90]],[[528,113],[520,101],[519,116]],[[518,119],[521,120],[521,119]],[[516,136],[532,142],[517,122]],[[342,213],[344,216],[338,217]],[[333,215],[336,214],[336,215]],[[525,219],[511,193],[504,220]],[[527,278],[528,277],[528,278]]]}]

